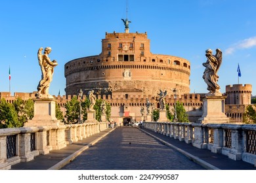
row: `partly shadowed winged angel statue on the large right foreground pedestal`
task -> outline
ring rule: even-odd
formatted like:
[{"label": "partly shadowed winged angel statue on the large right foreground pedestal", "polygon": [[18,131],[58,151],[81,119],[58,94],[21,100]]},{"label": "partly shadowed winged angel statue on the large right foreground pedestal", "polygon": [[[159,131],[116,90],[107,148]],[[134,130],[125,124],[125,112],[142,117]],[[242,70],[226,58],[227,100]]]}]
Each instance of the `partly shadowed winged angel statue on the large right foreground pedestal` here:
[{"label": "partly shadowed winged angel statue on the large right foreground pedestal", "polygon": [[205,71],[203,72],[203,80],[207,84],[207,90],[209,90],[209,95],[219,95],[219,90],[221,87],[217,84],[219,76],[217,75],[219,71],[219,67],[222,63],[222,52],[218,48],[216,49],[216,54],[213,55],[213,51],[211,49],[207,49],[205,51],[205,56],[207,61],[203,63],[205,67]]}]

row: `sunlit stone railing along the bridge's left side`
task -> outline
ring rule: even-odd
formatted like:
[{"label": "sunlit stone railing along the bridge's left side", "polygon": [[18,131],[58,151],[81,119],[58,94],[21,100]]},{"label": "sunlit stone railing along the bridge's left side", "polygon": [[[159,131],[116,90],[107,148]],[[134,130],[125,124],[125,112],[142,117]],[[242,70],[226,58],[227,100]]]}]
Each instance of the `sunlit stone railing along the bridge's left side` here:
[{"label": "sunlit stone railing along the bridge's left side", "polygon": [[0,129],[0,170],[31,161],[108,128],[107,123],[84,123]]}]

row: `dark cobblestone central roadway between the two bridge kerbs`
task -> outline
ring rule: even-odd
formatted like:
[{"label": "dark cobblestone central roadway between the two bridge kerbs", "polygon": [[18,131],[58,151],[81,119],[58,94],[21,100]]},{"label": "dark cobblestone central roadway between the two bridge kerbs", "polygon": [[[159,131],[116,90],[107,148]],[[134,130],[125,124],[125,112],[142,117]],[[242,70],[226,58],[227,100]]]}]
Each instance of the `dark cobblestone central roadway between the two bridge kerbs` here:
[{"label": "dark cobblestone central roadway between the two bridge kerbs", "polygon": [[62,169],[203,170],[204,168],[135,127],[117,127]]}]

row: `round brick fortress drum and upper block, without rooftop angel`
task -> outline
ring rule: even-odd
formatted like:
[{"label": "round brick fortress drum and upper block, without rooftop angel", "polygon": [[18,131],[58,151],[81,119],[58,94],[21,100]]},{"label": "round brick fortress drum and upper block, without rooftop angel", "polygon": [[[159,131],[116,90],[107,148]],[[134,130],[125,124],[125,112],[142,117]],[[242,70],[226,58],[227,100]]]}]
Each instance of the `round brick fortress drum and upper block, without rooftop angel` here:
[{"label": "round brick fortress drum and upper block, without rooftop angel", "polygon": [[106,33],[102,52],[65,64],[66,95],[94,90],[111,95],[117,90],[157,95],[159,90],[190,92],[190,62],[150,52],[146,33]]}]

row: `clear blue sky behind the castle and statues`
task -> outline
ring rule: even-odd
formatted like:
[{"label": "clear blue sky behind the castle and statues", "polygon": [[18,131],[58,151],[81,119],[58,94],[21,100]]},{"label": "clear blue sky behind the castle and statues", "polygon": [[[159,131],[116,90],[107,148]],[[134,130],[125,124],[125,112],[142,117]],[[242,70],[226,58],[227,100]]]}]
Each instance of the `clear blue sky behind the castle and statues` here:
[{"label": "clear blue sky behind the castle and statues", "polygon": [[[0,91],[33,92],[41,78],[37,50],[50,46],[58,61],[49,93],[64,95],[64,64],[98,55],[105,32],[124,32],[127,0],[3,1],[0,6]],[[205,50],[220,48],[221,92],[225,86],[252,84],[256,95],[256,1],[129,0],[130,32],[148,33],[150,51],[188,59],[190,93],[207,93],[202,79]],[[214,51],[215,54],[215,51]]]}]

